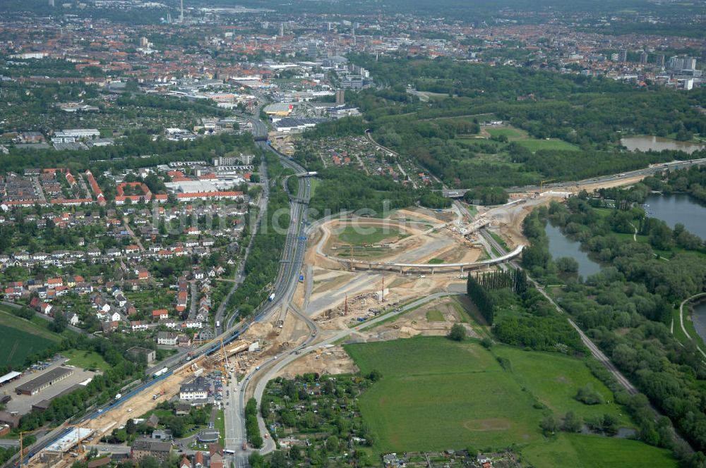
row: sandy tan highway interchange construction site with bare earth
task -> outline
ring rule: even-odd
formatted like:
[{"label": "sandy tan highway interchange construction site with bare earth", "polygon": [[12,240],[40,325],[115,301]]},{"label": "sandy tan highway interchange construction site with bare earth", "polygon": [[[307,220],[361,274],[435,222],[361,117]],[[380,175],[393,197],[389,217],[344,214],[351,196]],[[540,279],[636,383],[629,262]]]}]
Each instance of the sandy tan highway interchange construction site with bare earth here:
[{"label": "sandy tan highway interchange construction site with bare earth", "polygon": [[[313,338],[312,333],[319,333],[316,344],[319,339],[399,310],[431,293],[465,292],[468,271],[496,268],[479,265],[479,261],[489,257],[486,253],[489,246],[479,235],[478,228],[500,228],[510,233],[505,237],[508,247],[522,245],[522,219],[530,209],[548,202],[549,197],[541,197],[510,207],[482,210],[473,221],[463,205],[455,204],[453,209],[445,211],[402,209],[387,218],[340,218],[314,223],[291,304],[283,303],[268,319],[251,324],[238,340],[222,345],[218,352],[191,359],[162,376],[155,385],[128,400],[114,402],[105,412],[78,424],[64,437],[61,446],[44,450],[42,455],[32,459],[31,466],[71,466],[92,443],[121,428],[128,419],[140,417],[160,402],[174,398],[179,385],[195,376],[220,370],[224,378],[229,374],[232,378],[242,378],[273,357],[297,349]],[[353,226],[358,236],[356,243],[350,242]],[[367,235],[375,238],[374,241],[365,242]],[[357,263],[352,263],[351,259]],[[366,269],[366,262],[413,266]],[[475,266],[463,269],[459,264]],[[295,314],[294,309],[298,313]],[[315,331],[311,331],[306,317],[316,324]],[[346,342],[445,335],[455,323],[464,323],[469,335],[479,336],[479,331],[465,322],[462,304],[457,299],[443,297],[402,314],[394,321],[385,321],[368,330],[359,329],[349,335]],[[325,345],[295,360],[282,369],[280,375],[353,371],[357,369],[342,347]],[[249,386],[247,397],[253,388]]]}]

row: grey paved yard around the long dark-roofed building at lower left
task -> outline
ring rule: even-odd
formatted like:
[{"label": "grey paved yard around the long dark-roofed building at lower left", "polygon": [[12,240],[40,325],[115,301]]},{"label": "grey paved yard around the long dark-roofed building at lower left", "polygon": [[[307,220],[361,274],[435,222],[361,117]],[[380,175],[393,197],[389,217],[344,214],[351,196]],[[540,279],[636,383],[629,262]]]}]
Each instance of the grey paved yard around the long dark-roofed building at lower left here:
[{"label": "grey paved yard around the long dark-roofed building at lower left", "polygon": [[[11,395],[12,397],[12,400],[7,403],[6,411],[11,413],[18,412],[19,414],[28,413],[30,412],[30,410],[32,410],[32,405],[34,405],[35,403],[40,402],[42,400],[50,400],[56,395],[59,395],[59,393],[63,392],[67,388],[71,388],[77,383],[83,382],[88,378],[92,378],[93,376],[95,376],[96,372],[85,371],[78,367],[64,365],[64,362],[66,362],[67,360],[68,359],[64,358],[52,360],[49,362],[50,364],[47,367],[44,367],[44,369],[42,370],[32,371],[31,369],[28,369],[27,371],[23,372],[22,376],[20,376],[20,378],[18,378],[16,381],[12,381],[11,383],[8,383],[8,385],[0,388],[0,393]],[[27,383],[32,379],[37,378],[43,374],[46,374],[47,372],[51,371],[52,369],[56,369],[61,365],[64,365],[64,367],[73,368],[73,374],[64,378],[64,380],[62,381],[52,384],[52,386],[49,386],[49,388],[40,391],[36,395],[17,395],[15,393],[16,387],[22,385],[23,383]]]}]

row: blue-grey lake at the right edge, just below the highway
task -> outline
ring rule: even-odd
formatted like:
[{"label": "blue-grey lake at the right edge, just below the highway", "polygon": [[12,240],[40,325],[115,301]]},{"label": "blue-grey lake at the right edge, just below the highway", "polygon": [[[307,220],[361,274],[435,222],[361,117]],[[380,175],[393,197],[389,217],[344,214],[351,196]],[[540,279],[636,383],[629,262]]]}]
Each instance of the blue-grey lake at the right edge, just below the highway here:
[{"label": "blue-grey lake at the right edge, just below the highway", "polygon": [[690,233],[706,238],[706,206],[686,194],[647,196],[645,207],[647,216],[661,219],[674,228],[676,223],[682,223]]}]

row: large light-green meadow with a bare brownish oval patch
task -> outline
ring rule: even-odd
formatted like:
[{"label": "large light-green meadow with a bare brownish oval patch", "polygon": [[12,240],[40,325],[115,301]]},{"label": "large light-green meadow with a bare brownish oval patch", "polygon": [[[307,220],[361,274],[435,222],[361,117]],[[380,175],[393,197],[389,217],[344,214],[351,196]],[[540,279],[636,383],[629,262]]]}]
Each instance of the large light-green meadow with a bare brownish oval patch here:
[{"label": "large light-green meadow with a bare brownish oval patch", "polygon": [[542,440],[542,411],[512,374],[477,343],[424,337],[347,345],[363,373],[361,413],[379,452],[501,448]]}]

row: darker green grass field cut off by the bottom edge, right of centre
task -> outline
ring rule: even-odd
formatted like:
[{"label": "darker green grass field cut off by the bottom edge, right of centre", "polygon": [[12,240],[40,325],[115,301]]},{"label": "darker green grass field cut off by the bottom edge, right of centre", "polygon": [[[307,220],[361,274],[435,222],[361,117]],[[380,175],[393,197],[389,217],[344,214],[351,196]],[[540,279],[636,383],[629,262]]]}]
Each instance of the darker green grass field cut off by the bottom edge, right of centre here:
[{"label": "darker green grass field cut off by the bottom edge, right of centre", "polygon": [[640,441],[560,433],[544,443],[522,449],[537,468],[676,468],[669,450]]}]

